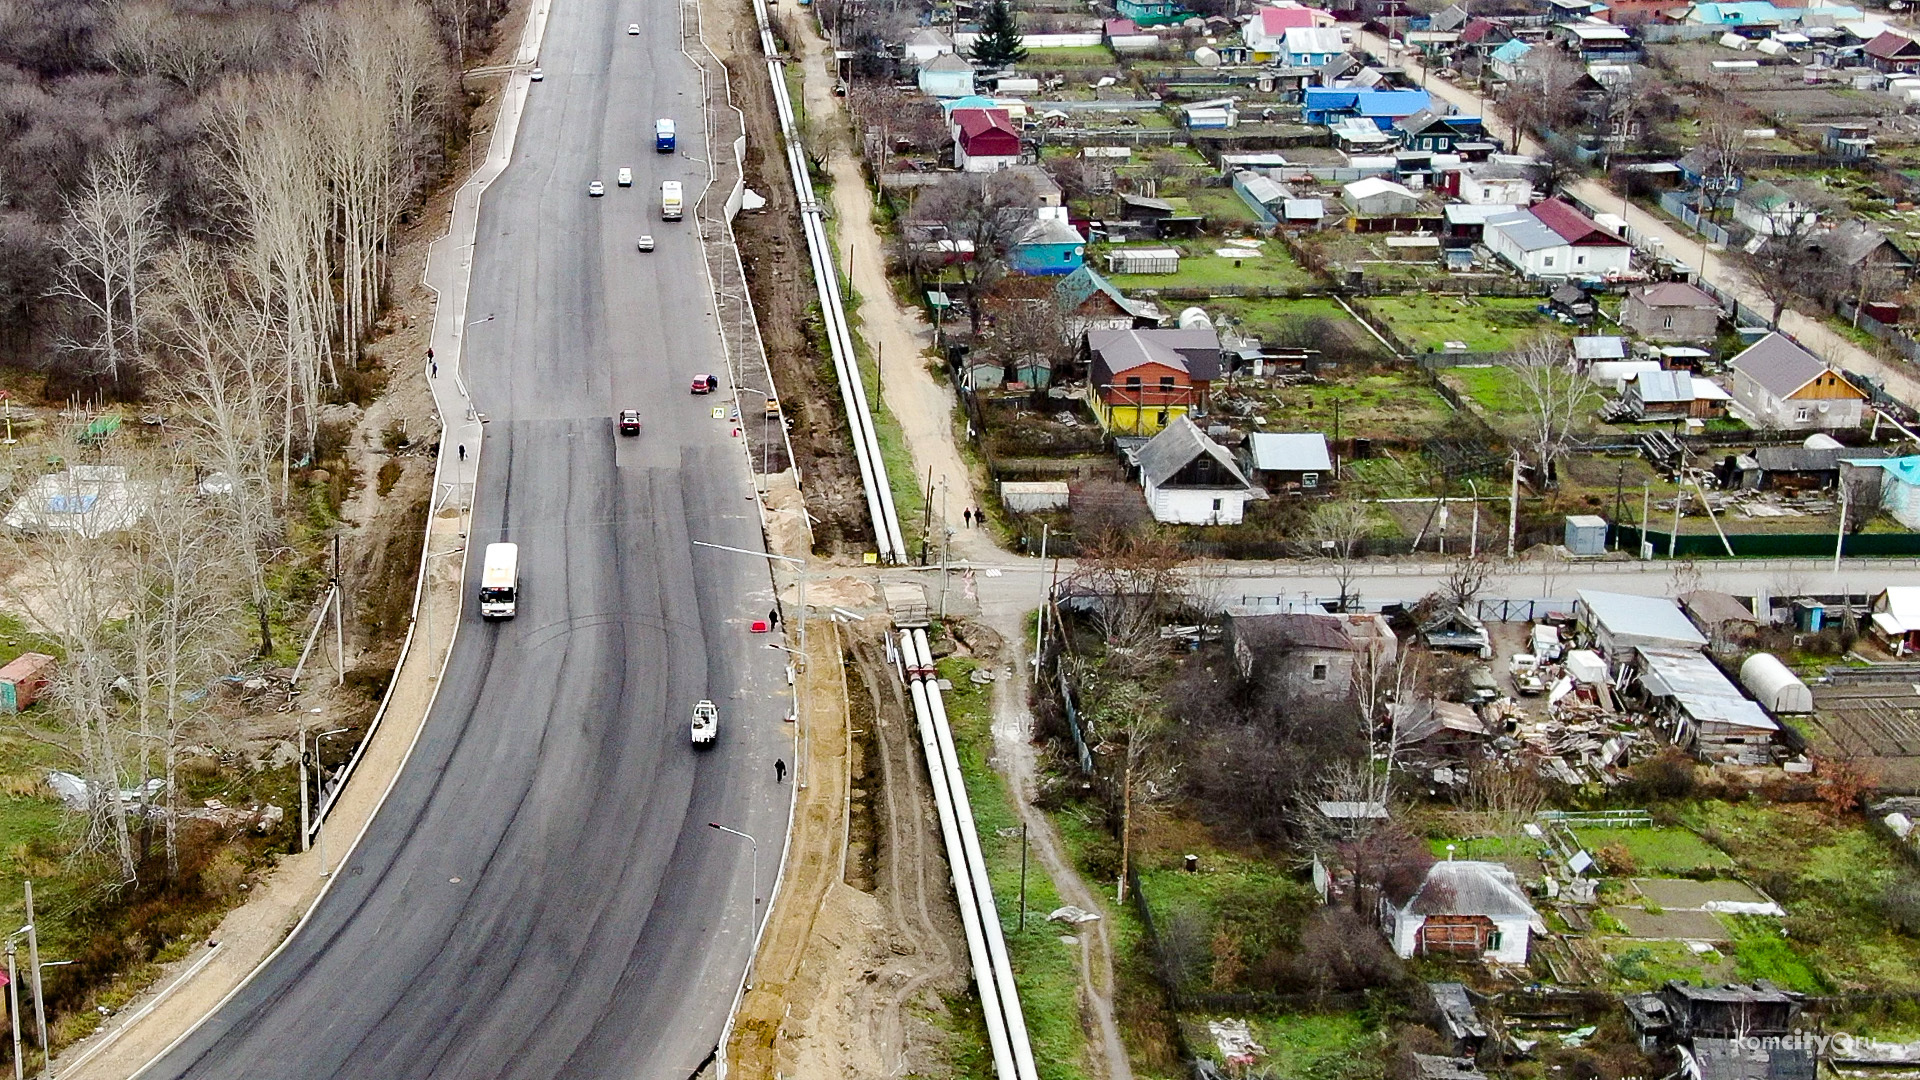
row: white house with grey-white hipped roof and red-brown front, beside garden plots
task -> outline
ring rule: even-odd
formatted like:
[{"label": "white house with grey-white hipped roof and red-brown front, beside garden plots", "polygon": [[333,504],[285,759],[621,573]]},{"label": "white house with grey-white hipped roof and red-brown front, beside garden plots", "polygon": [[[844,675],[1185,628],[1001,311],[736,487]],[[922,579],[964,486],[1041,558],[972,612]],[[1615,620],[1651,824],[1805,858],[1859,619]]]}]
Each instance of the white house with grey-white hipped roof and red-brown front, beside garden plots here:
[{"label": "white house with grey-white hipped roof and red-brown front, beside garden plots", "polygon": [[1380,928],[1402,959],[1446,955],[1524,965],[1538,920],[1513,871],[1500,863],[1434,863],[1404,905],[1380,901]]}]

